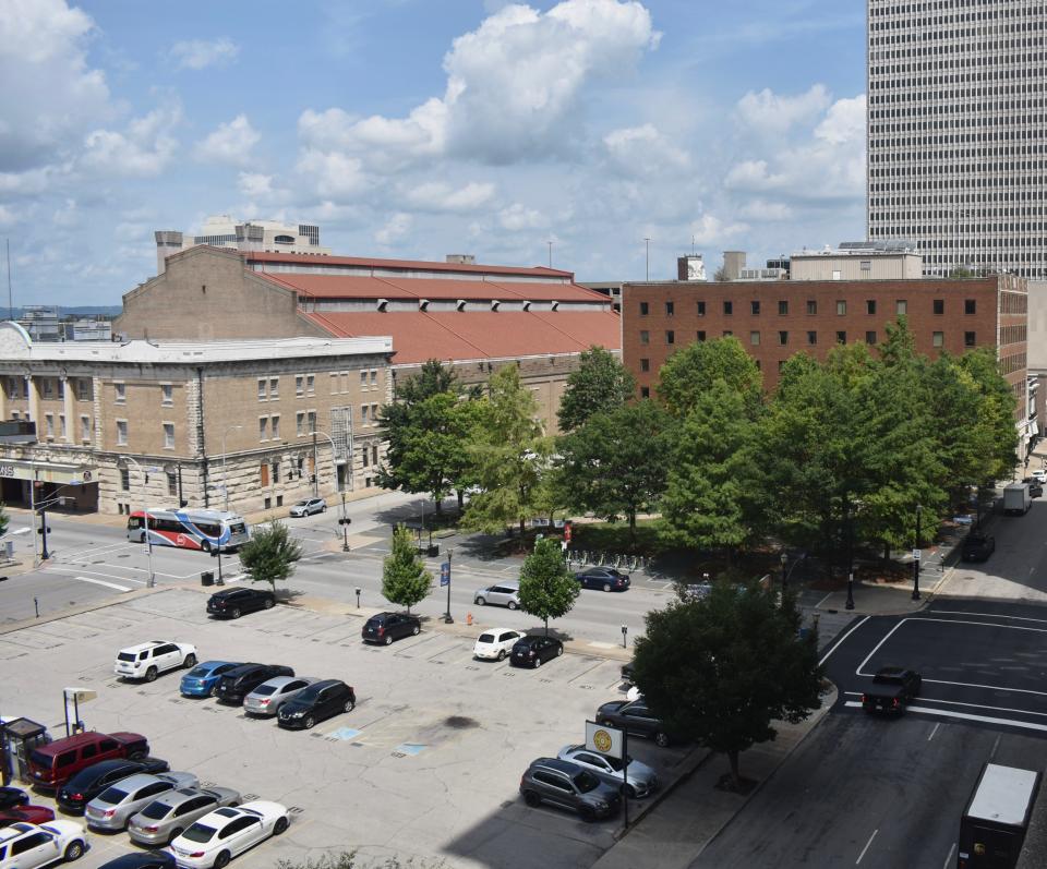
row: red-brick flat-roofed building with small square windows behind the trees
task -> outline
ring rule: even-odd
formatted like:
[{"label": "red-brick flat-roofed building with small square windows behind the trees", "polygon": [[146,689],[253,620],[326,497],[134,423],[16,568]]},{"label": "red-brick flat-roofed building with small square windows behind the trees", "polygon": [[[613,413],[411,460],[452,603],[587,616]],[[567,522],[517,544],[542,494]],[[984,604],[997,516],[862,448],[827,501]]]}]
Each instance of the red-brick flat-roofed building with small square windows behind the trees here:
[{"label": "red-brick flat-roofed building with small square windows behind the trees", "polygon": [[1018,399],[1022,455],[1035,433],[1026,384],[1027,287],[1024,278],[920,280],[671,281],[626,283],[622,354],[641,396],[654,395],[659,370],[691,341],[734,335],[773,389],[793,353],[825,359],[839,343],[876,345],[904,314],[918,352],[954,355],[997,350]]}]

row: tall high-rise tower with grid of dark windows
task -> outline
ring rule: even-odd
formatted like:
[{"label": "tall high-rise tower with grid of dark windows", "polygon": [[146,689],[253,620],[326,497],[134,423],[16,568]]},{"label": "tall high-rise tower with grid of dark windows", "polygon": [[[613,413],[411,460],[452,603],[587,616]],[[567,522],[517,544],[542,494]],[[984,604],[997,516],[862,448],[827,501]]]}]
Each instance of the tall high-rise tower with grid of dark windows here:
[{"label": "tall high-rise tower with grid of dark windows", "polygon": [[1047,278],[1047,3],[868,0],[868,237]]}]

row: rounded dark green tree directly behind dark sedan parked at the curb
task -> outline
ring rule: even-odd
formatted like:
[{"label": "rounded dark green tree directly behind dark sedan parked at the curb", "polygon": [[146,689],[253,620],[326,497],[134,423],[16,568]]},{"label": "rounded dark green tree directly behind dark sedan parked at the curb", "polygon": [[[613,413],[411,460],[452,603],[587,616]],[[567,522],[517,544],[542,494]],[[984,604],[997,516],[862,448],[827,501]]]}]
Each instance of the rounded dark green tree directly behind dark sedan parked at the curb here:
[{"label": "rounded dark green tree directly behind dark sedan parked at the curb", "polygon": [[636,541],[636,515],[665,490],[671,419],[654,401],[623,405],[590,417],[558,442],[563,491],[577,510],[616,521],[625,516]]}]

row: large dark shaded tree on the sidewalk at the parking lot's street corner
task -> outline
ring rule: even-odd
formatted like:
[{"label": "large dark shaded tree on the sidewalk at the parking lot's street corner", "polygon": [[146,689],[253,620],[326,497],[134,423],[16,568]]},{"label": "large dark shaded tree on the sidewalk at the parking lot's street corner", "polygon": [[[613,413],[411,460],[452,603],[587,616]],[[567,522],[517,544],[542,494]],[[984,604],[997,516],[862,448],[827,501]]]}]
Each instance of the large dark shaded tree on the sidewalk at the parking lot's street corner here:
[{"label": "large dark shaded tree on the sidewalk at the parking lot's street corner", "polygon": [[672,733],[727,756],[773,739],[775,721],[796,723],[820,705],[818,644],[799,638],[791,594],[755,584],[713,584],[702,600],[671,603],[646,616],[636,640],[635,679]]}]

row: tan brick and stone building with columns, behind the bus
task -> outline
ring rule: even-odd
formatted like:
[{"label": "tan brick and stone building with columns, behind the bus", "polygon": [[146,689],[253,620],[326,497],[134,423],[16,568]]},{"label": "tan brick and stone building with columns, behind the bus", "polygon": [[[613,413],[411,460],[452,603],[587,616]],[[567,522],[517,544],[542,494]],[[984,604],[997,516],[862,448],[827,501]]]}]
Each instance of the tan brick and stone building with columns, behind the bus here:
[{"label": "tan brick and stone building with columns, behind the bus", "polygon": [[[184,504],[250,512],[375,491],[389,337],[34,343],[0,323],[8,504],[127,514]],[[316,434],[313,434],[313,433]]]}]

